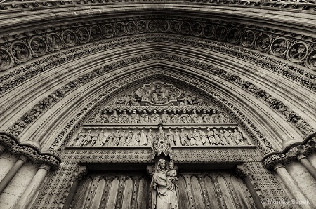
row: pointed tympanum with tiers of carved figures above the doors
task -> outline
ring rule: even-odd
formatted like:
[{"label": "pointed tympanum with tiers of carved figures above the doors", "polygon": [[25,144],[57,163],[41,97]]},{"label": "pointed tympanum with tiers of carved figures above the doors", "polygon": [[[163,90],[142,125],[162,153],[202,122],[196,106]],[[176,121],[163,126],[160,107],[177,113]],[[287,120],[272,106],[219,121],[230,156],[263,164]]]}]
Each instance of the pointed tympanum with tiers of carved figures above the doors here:
[{"label": "pointed tympanum with tiers of carved figures above the doors", "polygon": [[171,147],[253,144],[223,109],[189,88],[156,80],[131,89],[101,105],[69,146],[151,147],[154,158],[171,156]]}]

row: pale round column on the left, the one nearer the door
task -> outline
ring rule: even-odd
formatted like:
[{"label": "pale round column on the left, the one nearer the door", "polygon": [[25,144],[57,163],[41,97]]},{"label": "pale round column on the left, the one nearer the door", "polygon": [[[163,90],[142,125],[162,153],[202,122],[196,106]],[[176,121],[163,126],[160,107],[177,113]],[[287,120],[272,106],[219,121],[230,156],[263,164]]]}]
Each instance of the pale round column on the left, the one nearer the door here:
[{"label": "pale round column on the left, the one nearer the door", "polygon": [[23,192],[22,196],[18,200],[18,203],[15,205],[16,209],[26,209],[31,203],[34,195],[37,192],[37,189],[41,186],[41,183],[44,181],[46,174],[48,173],[51,166],[42,164],[37,170],[37,173],[32,178],[31,182],[27,186],[27,189]]}]

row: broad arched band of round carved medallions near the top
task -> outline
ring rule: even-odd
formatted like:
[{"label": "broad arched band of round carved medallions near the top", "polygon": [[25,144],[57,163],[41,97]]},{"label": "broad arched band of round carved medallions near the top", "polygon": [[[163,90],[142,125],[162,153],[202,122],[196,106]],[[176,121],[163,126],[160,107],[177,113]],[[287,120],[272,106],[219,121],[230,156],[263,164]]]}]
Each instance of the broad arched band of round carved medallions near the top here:
[{"label": "broad arched band of round carved medallions near the top", "polygon": [[[46,54],[48,55],[49,53],[55,53],[56,50],[60,50],[60,48],[62,47],[63,49],[67,49],[70,47],[73,47],[75,45],[77,46],[81,46],[82,44],[86,44],[89,42],[89,45],[93,46],[93,41],[96,41],[98,39],[108,39],[110,37],[118,37],[118,36],[129,36],[131,35],[131,32],[128,31],[129,27],[131,23],[133,23],[134,25],[141,25],[141,23],[143,22],[145,24],[144,29],[145,32],[147,33],[155,33],[155,32],[164,32],[164,34],[174,34],[174,22],[175,20],[160,20],[159,19],[150,19],[153,18],[152,16],[145,16],[145,17],[136,17],[136,20],[133,20],[133,22],[131,22],[131,20],[126,20],[124,22],[118,22],[118,23],[100,23],[100,22],[117,22],[117,19],[107,19],[107,20],[103,20],[103,21],[98,21],[96,20],[96,22],[81,22],[80,26],[77,27],[70,27],[70,28],[66,28],[66,29],[57,29],[57,30],[53,30],[51,32],[46,32],[46,33],[42,33],[40,36],[42,38],[42,41],[45,40],[46,42],[42,42],[41,41],[41,46],[42,48],[44,46],[49,46],[49,50],[43,50],[40,49],[39,46],[37,46],[37,44],[39,43],[33,43],[35,44],[35,46],[33,46],[33,48],[35,48],[35,50],[40,50],[41,55],[44,55],[44,52],[47,52]],[[161,18],[159,16],[154,16],[154,18]],[[170,18],[170,19],[174,19],[175,17],[173,16],[167,16],[166,18]],[[266,31],[261,31],[258,29],[251,29],[249,30],[248,28],[239,26],[237,27],[237,25],[223,25],[223,22],[217,22],[213,21],[211,24],[210,23],[206,23],[204,19],[192,19],[192,18],[185,18],[185,17],[177,17],[178,20],[176,22],[178,22],[177,24],[180,25],[180,23],[185,23],[185,24],[189,24],[190,27],[187,27],[189,29],[189,33],[187,32],[183,32],[183,30],[178,30],[178,32],[176,32],[177,34],[188,34],[190,36],[195,36],[195,37],[199,37],[202,39],[206,39],[206,43],[209,42],[209,39],[212,39],[214,41],[227,41],[228,43],[233,43],[236,46],[241,46],[244,50],[246,50],[246,48],[251,48],[251,50],[258,50],[260,52],[264,52],[264,53],[268,53],[268,54],[272,54],[275,56],[279,56],[281,58],[284,58],[285,60],[290,60],[291,62],[294,63],[298,63],[299,65],[302,65],[303,67],[310,67],[311,69],[316,69],[316,67],[314,66],[314,62],[316,58],[314,58],[312,50],[315,49],[315,43],[313,43],[312,41],[308,42],[307,40],[302,41],[301,39],[295,39],[291,36],[284,36],[282,34],[275,34],[275,32],[270,32],[269,34]],[[140,19],[140,20],[137,20]],[[143,20],[142,20],[143,19]],[[124,20],[124,18],[123,18]],[[198,21],[198,22],[197,22]],[[165,22],[166,24],[166,30],[162,30],[161,27],[158,27],[157,29],[150,29],[154,26],[152,26],[152,22],[159,22],[159,24],[162,24],[161,22]],[[211,20],[210,20],[211,22]],[[171,25],[172,23],[172,25]],[[118,25],[123,25],[124,27],[121,27],[122,29],[124,29],[122,32],[117,33],[115,32],[115,29],[117,29],[116,27],[118,27]],[[192,25],[192,27],[191,27]],[[195,30],[199,27],[201,27],[201,32],[195,32]],[[100,31],[103,33],[100,34]],[[230,32],[228,33],[228,30],[230,30]],[[88,35],[88,31],[92,32],[93,35],[89,36]],[[223,36],[224,34],[220,35],[220,32],[225,32],[225,36]],[[139,32],[138,30],[136,30],[136,32],[133,32],[133,35],[135,36],[136,34],[142,34],[143,32]],[[80,34],[80,35],[79,35]],[[86,34],[86,35],[84,35]],[[94,35],[95,34],[95,35]],[[98,34],[98,35],[97,35]],[[248,35],[251,34],[251,36]],[[268,34],[268,36],[262,36],[263,34]],[[156,34],[157,35],[157,34]],[[220,35],[220,36],[219,36]],[[29,35],[25,36],[23,35],[22,38],[18,39],[18,41],[22,44],[29,44],[29,40],[32,40],[34,42],[34,37],[38,37],[39,34],[38,33],[34,33],[33,35]],[[82,38],[81,38],[82,36]],[[84,36],[84,37],[83,37]],[[63,41],[62,41],[62,39]],[[94,37],[94,38],[93,38]],[[261,39],[258,39],[258,37],[261,37],[261,39],[263,39],[261,41]],[[82,40],[80,40],[82,39]],[[84,41],[83,41],[84,39]],[[251,41],[249,42],[249,40],[251,39]],[[255,41],[256,39],[256,41]],[[258,41],[257,41],[258,39]],[[15,43],[15,41],[17,41],[16,39],[12,40],[12,41],[8,41],[6,43],[3,43],[1,46],[2,48],[6,48],[7,50],[10,50],[10,47],[13,43]],[[247,43],[246,43],[246,42]],[[92,42],[92,43],[91,43]],[[271,43],[272,44],[268,44],[268,46],[270,46],[270,48],[268,46],[265,46],[267,43]],[[295,55],[295,50],[297,50],[295,48],[295,46],[297,46],[296,42],[298,43],[302,43],[303,46],[305,47],[305,51],[301,52],[301,50],[298,52],[298,54],[300,54],[300,58],[291,58],[291,54]],[[294,46],[291,46],[291,50],[294,50],[294,52],[289,53],[289,55],[287,55],[287,52],[289,52],[289,46],[293,44]],[[300,45],[298,45],[300,46]],[[297,46],[297,47],[298,47]],[[90,49],[91,46],[86,46]],[[231,46],[226,46],[225,48],[230,48]],[[29,49],[24,48],[24,53],[26,53],[27,51],[29,51]],[[33,57],[31,56],[25,56],[23,55],[23,53],[19,53],[19,57],[23,56],[24,60],[32,60],[33,58],[37,58],[37,54],[38,53],[34,53]],[[304,56],[302,56],[302,54],[304,54]],[[15,53],[14,53],[15,54]],[[259,57],[262,57],[262,53],[259,53]],[[297,56],[297,55],[295,55]],[[20,65],[21,62],[18,62],[17,59],[13,59],[13,57],[15,57],[15,55],[13,55],[13,52],[11,51],[11,55],[9,58],[6,58],[7,60],[13,60],[13,65],[12,66],[18,66]],[[258,57],[258,56],[256,56]],[[241,59],[244,59],[244,57],[239,57]],[[59,60],[59,62],[62,60]],[[0,64],[1,62],[5,62],[0,60]],[[41,61],[37,61],[37,62],[41,62]],[[64,61],[65,62],[65,61]],[[3,63],[2,65],[5,65],[5,63]],[[311,63],[311,64],[308,64]],[[284,65],[284,63],[283,63]],[[264,65],[263,65],[264,67]],[[303,76],[312,76],[315,79],[315,75],[310,74],[309,72],[306,72],[303,69],[299,69],[298,67],[294,67],[291,66],[292,69],[294,69],[296,72],[304,72]],[[8,69],[8,67],[3,68],[3,70]],[[1,81],[2,79],[0,79]],[[297,80],[298,81],[298,80]],[[303,83],[303,82],[302,82]]]}]

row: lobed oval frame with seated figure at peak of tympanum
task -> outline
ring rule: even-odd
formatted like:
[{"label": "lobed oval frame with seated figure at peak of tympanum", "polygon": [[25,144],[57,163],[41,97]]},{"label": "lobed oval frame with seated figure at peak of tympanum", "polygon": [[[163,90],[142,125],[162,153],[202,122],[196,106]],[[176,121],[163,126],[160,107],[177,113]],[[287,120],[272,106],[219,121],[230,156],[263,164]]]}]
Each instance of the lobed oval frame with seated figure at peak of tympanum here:
[{"label": "lobed oval frame with seated figure at peak of tympanum", "polygon": [[181,95],[178,88],[162,82],[144,84],[142,88],[136,91],[136,94],[141,97],[142,101],[150,102],[151,104],[176,102],[177,98]]}]

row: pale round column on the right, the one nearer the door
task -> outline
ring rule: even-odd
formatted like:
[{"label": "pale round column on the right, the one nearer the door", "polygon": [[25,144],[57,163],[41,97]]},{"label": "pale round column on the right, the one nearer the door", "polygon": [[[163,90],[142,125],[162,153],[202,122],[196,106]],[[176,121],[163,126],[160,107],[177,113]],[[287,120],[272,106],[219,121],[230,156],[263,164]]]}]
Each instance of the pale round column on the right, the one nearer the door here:
[{"label": "pale round column on the right, the one nearer the door", "polygon": [[[287,172],[287,169],[285,169],[285,166],[283,166],[281,163],[277,163],[275,165],[274,170],[277,172],[279,177],[281,177],[282,181],[284,182],[285,186],[291,194],[294,196],[296,201],[307,201],[308,198],[305,197],[301,189],[298,187],[296,182],[294,182],[291,175],[289,175],[289,172]],[[312,207],[309,204],[302,204],[300,205],[303,209],[312,209]]]}]

